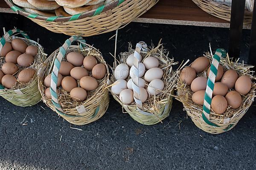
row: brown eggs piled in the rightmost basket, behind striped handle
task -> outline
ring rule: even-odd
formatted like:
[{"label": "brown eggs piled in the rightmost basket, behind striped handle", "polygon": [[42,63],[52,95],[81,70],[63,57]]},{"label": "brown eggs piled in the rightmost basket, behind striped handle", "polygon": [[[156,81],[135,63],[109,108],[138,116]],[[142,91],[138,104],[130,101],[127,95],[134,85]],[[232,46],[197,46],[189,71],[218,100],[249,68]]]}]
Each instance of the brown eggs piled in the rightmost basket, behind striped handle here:
[{"label": "brown eggs piled in the rightmost basket, behind striped handle", "polygon": [[[209,67],[209,59],[206,57],[199,57],[192,62],[190,67],[185,67],[181,71],[181,80],[190,85],[192,101],[198,105],[204,105],[204,94],[207,87],[207,78],[197,77],[197,74],[203,72]],[[209,75],[210,67],[207,70],[207,77]],[[241,95],[246,95],[251,89],[252,83],[250,77],[242,75],[239,77],[235,70],[227,70],[221,64],[218,65],[218,73],[215,78],[214,89],[212,92],[212,110],[217,114],[223,114],[227,106],[232,109],[237,109],[241,106]]]}]

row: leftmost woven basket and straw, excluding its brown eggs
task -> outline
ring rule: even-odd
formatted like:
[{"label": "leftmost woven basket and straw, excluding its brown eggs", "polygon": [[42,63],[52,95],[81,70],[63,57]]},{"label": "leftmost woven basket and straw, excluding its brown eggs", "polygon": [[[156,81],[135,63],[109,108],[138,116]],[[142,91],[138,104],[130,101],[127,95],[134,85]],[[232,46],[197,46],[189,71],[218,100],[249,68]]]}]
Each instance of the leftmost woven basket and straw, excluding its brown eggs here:
[{"label": "leftmost woven basket and straw, excluding its brown eggs", "polygon": [[[21,34],[25,38],[16,37],[17,34]],[[38,42],[29,40],[29,36],[25,32],[20,31],[19,29],[13,29],[8,31],[0,40],[0,51],[6,41],[10,42],[14,38],[20,38],[24,40],[27,43],[27,45],[35,45],[38,47],[38,54],[35,56],[34,63],[29,67],[34,68],[37,71],[38,66],[45,61],[47,55],[44,54],[44,49],[40,44],[38,44]],[[0,67],[2,67],[4,62],[4,57],[0,58]],[[18,68],[19,71],[14,74],[15,77],[17,77],[19,72],[23,69],[20,66]],[[26,84],[19,83],[11,89],[6,89],[3,87],[3,85],[0,85],[0,96],[2,96],[12,104],[17,106],[26,107],[37,104],[41,100],[41,94],[38,90],[37,74],[35,74],[35,76],[32,80],[30,80],[30,82]]]}]

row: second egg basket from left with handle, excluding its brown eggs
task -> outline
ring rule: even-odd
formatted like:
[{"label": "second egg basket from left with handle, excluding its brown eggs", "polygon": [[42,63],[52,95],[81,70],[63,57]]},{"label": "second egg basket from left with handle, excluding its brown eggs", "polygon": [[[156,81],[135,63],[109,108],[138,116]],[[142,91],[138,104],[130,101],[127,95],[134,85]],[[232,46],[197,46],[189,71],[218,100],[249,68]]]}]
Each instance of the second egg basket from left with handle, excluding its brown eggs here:
[{"label": "second egg basket from left with handle, excluding its brown eggs", "polygon": [[[71,43],[75,42],[75,40],[79,41],[80,45],[71,45]],[[70,94],[63,89],[59,89],[59,94],[57,95],[56,84],[54,83],[55,81],[52,77],[52,100],[48,99],[44,94],[44,90],[46,89],[44,86],[44,78],[50,73],[52,73],[52,75],[58,75],[58,63],[64,59],[65,54],[71,51],[80,51],[84,56],[88,54],[96,57],[98,63],[105,64],[107,74],[103,79],[98,81],[98,88],[96,88],[94,91],[87,92],[87,99],[82,102],[76,102],[75,100],[71,99]],[[72,124],[86,125],[101,118],[108,109],[108,77],[108,66],[106,65],[106,62],[104,61],[99,50],[86,44],[81,37],[73,36],[66,40],[64,45],[54,51],[46,62],[41,65],[38,72],[38,88],[41,92],[44,103],[53,111],[58,113],[58,115]]]}]

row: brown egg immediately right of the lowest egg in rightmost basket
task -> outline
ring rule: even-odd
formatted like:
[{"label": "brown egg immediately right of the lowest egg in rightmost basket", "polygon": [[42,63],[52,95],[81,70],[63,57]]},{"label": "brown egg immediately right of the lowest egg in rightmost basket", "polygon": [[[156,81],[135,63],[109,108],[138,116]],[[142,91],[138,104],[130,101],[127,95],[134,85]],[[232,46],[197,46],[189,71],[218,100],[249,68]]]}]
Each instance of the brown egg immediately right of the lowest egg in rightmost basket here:
[{"label": "brown egg immediately right of the lowest egg in rightmost basket", "polygon": [[242,104],[241,95],[237,91],[230,91],[225,96],[227,105],[231,106],[232,109],[237,109]]}]

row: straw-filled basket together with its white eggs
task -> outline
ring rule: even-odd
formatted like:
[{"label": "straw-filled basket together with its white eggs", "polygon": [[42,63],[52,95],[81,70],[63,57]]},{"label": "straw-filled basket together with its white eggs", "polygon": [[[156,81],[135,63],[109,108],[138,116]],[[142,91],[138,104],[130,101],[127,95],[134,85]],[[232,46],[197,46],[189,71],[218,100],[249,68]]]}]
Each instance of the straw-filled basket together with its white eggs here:
[{"label": "straw-filled basket together with its white eggs", "polygon": [[148,49],[139,42],[133,50],[115,58],[110,91],[129,115],[144,125],[154,125],[169,116],[177,73],[174,59],[162,44]]}]

